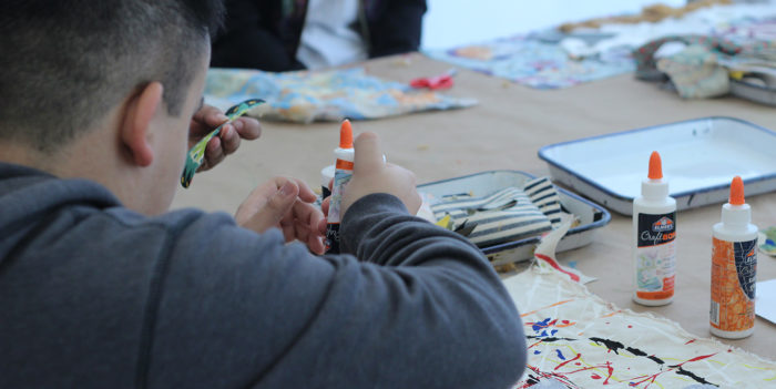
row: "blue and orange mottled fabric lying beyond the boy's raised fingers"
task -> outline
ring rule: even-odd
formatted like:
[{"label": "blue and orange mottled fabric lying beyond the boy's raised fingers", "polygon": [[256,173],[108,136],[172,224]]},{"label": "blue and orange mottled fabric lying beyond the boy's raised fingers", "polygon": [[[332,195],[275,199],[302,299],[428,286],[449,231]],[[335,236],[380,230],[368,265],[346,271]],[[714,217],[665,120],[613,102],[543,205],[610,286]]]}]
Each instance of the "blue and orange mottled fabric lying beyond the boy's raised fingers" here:
[{"label": "blue and orange mottled fabric lying beyond the boy's raised fingers", "polygon": [[477,104],[473,99],[452,98],[381,80],[366,74],[361,68],[285,73],[237,69],[207,72],[205,101],[208,104],[225,109],[249,98],[266,101],[249,115],[300,123],[380,119]]}]

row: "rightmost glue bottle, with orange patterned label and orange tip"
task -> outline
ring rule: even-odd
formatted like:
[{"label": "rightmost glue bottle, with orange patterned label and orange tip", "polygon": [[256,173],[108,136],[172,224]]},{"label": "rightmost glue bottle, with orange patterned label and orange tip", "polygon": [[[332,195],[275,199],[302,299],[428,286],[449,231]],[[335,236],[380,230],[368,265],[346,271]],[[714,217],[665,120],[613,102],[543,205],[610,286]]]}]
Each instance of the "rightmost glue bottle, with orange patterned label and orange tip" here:
[{"label": "rightmost glue bottle, with orange patterned label and orange tip", "polygon": [[722,222],[714,225],[712,246],[712,334],[745,338],[755,329],[757,226],[744,202],[744,182],[731,184],[731,198],[722,206]]}]

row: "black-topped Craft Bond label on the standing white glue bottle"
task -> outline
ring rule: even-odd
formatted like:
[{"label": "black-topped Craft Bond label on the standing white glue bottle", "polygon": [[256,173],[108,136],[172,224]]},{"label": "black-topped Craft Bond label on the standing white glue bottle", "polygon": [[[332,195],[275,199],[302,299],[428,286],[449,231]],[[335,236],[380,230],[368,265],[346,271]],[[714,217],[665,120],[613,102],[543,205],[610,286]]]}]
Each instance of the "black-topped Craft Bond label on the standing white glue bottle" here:
[{"label": "black-topped Craft Bond label on the standing white glue bottle", "polygon": [[636,296],[670,298],[676,275],[676,213],[639,214],[636,234]]}]

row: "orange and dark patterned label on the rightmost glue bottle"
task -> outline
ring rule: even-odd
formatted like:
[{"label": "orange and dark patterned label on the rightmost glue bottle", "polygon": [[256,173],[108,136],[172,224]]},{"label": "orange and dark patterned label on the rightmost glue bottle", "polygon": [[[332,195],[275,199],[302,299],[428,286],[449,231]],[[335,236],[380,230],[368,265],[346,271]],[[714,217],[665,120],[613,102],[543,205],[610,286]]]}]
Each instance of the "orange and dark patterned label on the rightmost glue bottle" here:
[{"label": "orange and dark patterned label on the rightmost glue bottle", "polygon": [[727,242],[714,238],[712,248],[711,324],[724,331],[755,325],[757,239]]}]

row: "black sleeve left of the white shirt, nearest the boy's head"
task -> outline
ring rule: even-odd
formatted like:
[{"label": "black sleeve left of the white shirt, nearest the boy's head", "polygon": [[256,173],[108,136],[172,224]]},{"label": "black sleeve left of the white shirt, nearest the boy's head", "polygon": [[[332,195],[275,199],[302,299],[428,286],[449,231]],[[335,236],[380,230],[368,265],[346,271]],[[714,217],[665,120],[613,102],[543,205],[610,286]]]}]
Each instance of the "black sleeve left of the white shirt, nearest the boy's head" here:
[{"label": "black sleeve left of the white shirt, nearest the boy's head", "polygon": [[211,66],[245,68],[280,72],[304,65],[288,53],[268,25],[272,16],[262,14],[259,0],[226,1],[223,31],[212,44]]}]

